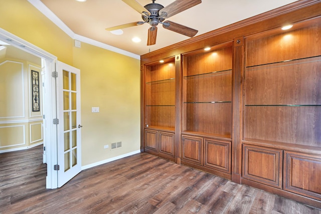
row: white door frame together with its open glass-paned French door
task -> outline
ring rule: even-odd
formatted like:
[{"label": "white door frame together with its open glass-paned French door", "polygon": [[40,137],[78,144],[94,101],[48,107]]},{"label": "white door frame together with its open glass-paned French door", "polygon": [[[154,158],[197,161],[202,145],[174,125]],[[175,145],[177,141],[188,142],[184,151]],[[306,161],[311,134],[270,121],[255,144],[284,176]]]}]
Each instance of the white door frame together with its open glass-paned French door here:
[{"label": "white door frame together with its open glass-paned French door", "polygon": [[[57,57],[1,28],[0,40],[42,59],[43,123],[47,157],[46,188],[58,188],[81,171],[80,70],[57,61]],[[56,67],[58,68],[56,69]],[[71,79],[69,89],[65,88],[67,83],[65,77],[61,78],[63,73],[68,74]],[[58,74],[60,75],[58,76]],[[73,102],[75,109],[65,109],[66,92],[71,96],[70,108],[72,107],[71,102]],[[63,102],[61,102],[62,99]],[[68,114],[65,114],[66,112]],[[68,117],[67,120],[65,115],[74,116]],[[60,124],[59,119],[62,121]],[[69,121],[71,129],[65,129],[66,121]],[[77,128],[74,127],[73,123],[78,124]],[[70,132],[69,136],[71,137],[69,139],[66,138],[67,132]],[[74,137],[71,135],[73,133],[75,133]],[[69,142],[71,149],[65,149],[67,142]],[[64,158],[61,158],[62,156]],[[66,168],[66,164],[69,164],[70,167]],[[62,166],[61,169],[60,165]]]}]

